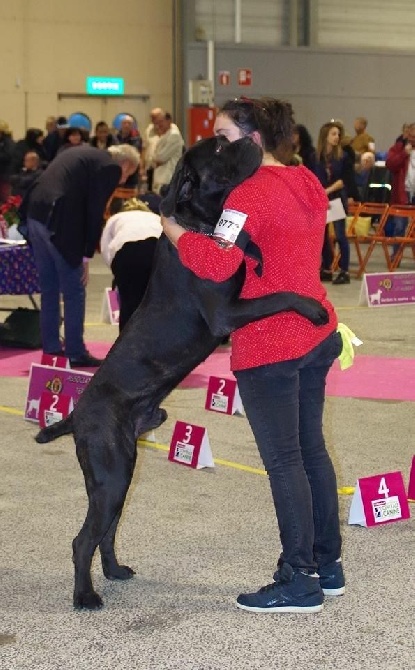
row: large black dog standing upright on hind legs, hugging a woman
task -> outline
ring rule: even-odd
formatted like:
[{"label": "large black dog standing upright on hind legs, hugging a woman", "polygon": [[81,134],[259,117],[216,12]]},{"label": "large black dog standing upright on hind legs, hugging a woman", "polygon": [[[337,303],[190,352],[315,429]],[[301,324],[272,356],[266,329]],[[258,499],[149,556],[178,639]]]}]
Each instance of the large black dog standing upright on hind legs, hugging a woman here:
[{"label": "large black dog standing upright on hind legs, hugging a woman", "polygon": [[[182,157],[162,205],[164,213],[193,230],[212,231],[227,194],[260,161],[260,150],[251,140],[202,140]],[[88,513],[73,541],[75,607],[102,606],[90,574],[98,545],[108,579],[134,574],[116,559],[115,532],[134,471],[137,437],[165,421],[167,414],[159,405],[166,396],[224,335],[249,321],[293,309],[317,325],[327,323],[327,312],[318,302],[293,293],[238,300],[244,277],[242,264],[227,282],[198,279],[162,235],[140,307],[72,414],[37,435],[43,443],[73,433],[85,477]]]}]

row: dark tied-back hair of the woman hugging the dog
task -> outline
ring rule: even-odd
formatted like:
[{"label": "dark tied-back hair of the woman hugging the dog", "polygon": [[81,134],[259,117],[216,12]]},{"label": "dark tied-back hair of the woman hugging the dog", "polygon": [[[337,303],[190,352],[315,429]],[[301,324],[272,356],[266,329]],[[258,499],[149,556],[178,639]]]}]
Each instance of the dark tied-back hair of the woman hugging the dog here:
[{"label": "dark tied-back hair of the woman hugging the dog", "polygon": [[294,112],[289,102],[276,98],[236,98],[218,112],[229,117],[244,135],[257,131],[264,151],[283,163],[292,155]]}]

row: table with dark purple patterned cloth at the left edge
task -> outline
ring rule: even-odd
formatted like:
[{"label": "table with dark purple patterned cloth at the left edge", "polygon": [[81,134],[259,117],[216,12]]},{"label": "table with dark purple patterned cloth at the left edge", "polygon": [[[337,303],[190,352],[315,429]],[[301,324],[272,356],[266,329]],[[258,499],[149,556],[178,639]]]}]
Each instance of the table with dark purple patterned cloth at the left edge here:
[{"label": "table with dark purple patterned cloth at the left edge", "polygon": [[0,295],[27,295],[34,307],[39,277],[28,244],[0,244]]}]

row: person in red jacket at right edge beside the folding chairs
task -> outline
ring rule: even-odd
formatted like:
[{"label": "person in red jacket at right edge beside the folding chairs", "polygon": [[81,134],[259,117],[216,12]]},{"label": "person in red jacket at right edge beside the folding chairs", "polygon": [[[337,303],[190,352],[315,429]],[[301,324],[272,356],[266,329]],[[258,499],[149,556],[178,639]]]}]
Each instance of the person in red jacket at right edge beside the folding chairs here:
[{"label": "person in red jacket at right edge beside the folding chairs", "polygon": [[[398,137],[388,150],[386,167],[392,174],[391,204],[415,205],[415,123],[408,125],[406,138]],[[403,236],[407,224],[406,217],[394,216],[391,236]],[[398,248],[394,245],[392,259]]]}]

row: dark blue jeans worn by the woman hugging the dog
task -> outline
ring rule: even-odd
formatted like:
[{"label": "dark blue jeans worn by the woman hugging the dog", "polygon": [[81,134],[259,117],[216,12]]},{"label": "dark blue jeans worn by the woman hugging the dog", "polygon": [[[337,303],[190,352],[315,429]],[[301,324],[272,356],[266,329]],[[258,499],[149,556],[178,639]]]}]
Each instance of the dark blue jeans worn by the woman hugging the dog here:
[{"label": "dark blue jeans worn by the woman hugging the dog", "polygon": [[323,436],[326,377],[342,350],[334,332],[306,356],[235,372],[269,476],[283,561],[314,570],[340,557],[337,481]]}]

